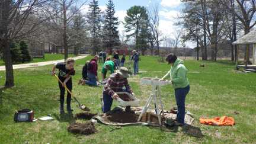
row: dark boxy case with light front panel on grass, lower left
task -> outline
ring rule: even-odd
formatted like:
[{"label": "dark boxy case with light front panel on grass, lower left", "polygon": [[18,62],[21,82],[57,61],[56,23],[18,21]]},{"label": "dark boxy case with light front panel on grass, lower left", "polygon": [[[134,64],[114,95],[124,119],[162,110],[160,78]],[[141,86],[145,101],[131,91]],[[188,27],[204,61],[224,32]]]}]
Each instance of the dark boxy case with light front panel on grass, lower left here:
[{"label": "dark boxy case with light front panel on grass, lower left", "polygon": [[15,122],[32,122],[34,119],[34,111],[30,109],[16,110],[14,114]]}]

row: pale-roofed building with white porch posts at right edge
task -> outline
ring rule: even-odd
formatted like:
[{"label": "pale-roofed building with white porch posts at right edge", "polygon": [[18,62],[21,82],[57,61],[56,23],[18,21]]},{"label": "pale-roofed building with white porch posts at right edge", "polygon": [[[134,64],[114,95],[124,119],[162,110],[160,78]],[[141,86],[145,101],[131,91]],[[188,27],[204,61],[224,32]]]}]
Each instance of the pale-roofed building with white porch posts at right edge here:
[{"label": "pale-roofed building with white porch posts at right edge", "polygon": [[[239,49],[239,45],[241,44],[252,44],[253,45],[252,65],[256,65],[256,30],[250,31],[248,34],[245,34],[245,36],[234,41],[232,44],[236,45],[237,49]],[[236,65],[238,65],[238,50],[236,53]]]}]

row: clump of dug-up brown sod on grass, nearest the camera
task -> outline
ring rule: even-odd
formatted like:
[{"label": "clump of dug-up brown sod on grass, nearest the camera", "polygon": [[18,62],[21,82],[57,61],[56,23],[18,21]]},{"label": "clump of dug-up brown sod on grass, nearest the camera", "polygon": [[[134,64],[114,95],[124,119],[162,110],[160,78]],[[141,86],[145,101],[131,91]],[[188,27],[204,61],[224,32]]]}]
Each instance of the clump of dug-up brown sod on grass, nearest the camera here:
[{"label": "clump of dug-up brown sod on grass, nearest the camera", "polygon": [[74,134],[91,135],[97,132],[94,123],[73,123],[68,127],[68,132]]}]

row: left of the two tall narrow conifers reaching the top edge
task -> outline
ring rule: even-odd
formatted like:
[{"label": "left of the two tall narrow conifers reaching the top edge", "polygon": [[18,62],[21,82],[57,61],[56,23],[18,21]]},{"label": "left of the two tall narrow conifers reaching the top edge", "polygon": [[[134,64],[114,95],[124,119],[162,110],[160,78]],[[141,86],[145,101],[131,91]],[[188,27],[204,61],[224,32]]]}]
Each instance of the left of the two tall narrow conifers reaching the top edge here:
[{"label": "left of the two tall narrow conifers reaching the top edge", "polygon": [[101,21],[101,10],[98,1],[92,0],[89,4],[88,23],[91,32],[91,47],[94,54],[100,50]]}]

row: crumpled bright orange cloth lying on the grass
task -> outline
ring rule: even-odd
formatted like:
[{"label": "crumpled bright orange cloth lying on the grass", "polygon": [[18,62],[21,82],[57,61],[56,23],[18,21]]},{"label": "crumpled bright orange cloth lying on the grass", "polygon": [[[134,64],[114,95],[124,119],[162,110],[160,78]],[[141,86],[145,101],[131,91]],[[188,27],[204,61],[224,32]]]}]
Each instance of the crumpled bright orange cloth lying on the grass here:
[{"label": "crumpled bright orange cloth lying on the grass", "polygon": [[213,119],[199,119],[200,123],[208,124],[213,126],[233,126],[235,124],[235,119],[233,117],[215,117]]}]

